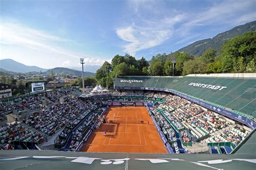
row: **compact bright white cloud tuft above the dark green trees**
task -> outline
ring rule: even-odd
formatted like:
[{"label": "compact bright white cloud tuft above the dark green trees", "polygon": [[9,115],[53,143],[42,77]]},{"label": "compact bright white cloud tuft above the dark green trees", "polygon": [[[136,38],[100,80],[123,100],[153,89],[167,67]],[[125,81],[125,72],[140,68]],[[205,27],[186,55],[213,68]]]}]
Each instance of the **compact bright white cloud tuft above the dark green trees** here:
[{"label": "compact bright white cloud tuft above the dark green trees", "polygon": [[135,56],[137,51],[160,45],[169,39],[173,34],[173,25],[182,21],[183,17],[184,15],[177,15],[159,21],[144,19],[144,24],[138,26],[132,23],[117,29],[116,33],[120,39],[129,42],[123,45],[124,52]]}]

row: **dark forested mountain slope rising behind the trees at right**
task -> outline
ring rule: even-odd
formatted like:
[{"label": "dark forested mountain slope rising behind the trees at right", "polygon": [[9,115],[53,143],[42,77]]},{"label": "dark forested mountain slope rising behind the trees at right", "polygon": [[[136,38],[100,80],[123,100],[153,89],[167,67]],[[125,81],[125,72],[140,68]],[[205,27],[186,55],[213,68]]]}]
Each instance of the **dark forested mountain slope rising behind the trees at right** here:
[{"label": "dark forested mountain slope rising behind the trees at right", "polygon": [[235,26],[235,28],[219,33],[217,36],[213,38],[198,40],[197,42],[194,42],[188,46],[185,46],[182,49],[179,49],[178,51],[185,52],[188,55],[195,55],[195,56],[203,55],[203,53],[209,48],[219,51],[221,46],[225,42],[227,42],[227,40],[235,36],[242,35],[247,31],[256,31],[256,21],[246,23],[240,26]]}]

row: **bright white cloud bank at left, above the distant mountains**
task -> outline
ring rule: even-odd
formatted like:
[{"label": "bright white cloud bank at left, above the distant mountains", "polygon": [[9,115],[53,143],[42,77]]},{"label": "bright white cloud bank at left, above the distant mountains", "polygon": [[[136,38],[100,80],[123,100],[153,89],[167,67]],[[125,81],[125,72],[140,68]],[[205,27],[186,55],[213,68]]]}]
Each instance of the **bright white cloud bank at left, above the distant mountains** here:
[{"label": "bright white cloud bank at left, above the distant mountains", "polygon": [[[36,56],[48,53],[50,56],[45,56],[44,60],[53,61],[53,58],[56,60],[56,57],[59,59],[65,58],[65,62],[62,63],[63,66],[70,66],[72,63],[76,63],[75,60],[79,60],[81,56],[86,57],[86,62],[90,65],[101,65],[107,60],[99,59],[100,57],[87,57],[89,55],[64,49],[64,47],[62,47],[63,42],[75,45],[78,44],[73,40],[53,36],[41,30],[27,28],[21,24],[2,22],[0,25],[0,44],[5,45],[5,47],[1,46],[1,58],[18,58],[17,56],[12,56],[12,52],[5,50],[16,45],[17,47],[23,47],[23,52],[19,54],[20,58],[28,58],[23,55],[23,53],[28,53],[28,51],[33,51],[33,53],[37,51],[38,55]],[[70,57],[71,59],[66,60]],[[51,63],[51,65],[55,64]]]}]

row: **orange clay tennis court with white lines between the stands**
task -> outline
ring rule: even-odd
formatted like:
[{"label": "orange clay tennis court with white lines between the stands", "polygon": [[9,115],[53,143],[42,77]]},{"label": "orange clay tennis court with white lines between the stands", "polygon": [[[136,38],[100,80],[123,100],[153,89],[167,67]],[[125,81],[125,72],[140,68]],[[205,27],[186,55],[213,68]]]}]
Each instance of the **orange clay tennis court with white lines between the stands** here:
[{"label": "orange clay tennis court with white lines between the stands", "polygon": [[146,107],[111,107],[106,118],[107,124],[95,130],[84,152],[168,153]]}]

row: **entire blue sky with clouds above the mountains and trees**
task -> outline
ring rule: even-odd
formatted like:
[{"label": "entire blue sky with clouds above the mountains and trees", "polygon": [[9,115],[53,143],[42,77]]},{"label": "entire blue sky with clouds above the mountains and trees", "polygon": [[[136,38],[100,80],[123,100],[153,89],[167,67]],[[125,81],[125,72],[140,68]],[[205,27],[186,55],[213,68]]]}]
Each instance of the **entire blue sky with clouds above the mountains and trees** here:
[{"label": "entire blue sky with clouds above the mountains and trees", "polygon": [[0,58],[44,68],[150,59],[256,20],[256,1],[4,1]]}]

